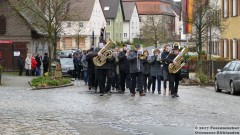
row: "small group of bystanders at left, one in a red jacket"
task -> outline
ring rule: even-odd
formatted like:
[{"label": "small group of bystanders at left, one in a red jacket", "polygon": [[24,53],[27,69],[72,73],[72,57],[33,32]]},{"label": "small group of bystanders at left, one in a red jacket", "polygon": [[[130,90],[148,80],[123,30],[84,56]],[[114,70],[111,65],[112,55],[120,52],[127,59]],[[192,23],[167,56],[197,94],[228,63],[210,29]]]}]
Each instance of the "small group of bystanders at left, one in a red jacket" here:
[{"label": "small group of bystanders at left, one in a red jacket", "polygon": [[23,58],[23,55],[20,54],[18,57],[18,69],[19,69],[19,76],[22,76],[23,69],[25,69],[26,76],[40,76],[42,73],[43,67],[43,74],[48,72],[49,66],[49,57],[48,54],[45,53],[44,57],[40,54],[36,56],[27,54],[26,59]]}]

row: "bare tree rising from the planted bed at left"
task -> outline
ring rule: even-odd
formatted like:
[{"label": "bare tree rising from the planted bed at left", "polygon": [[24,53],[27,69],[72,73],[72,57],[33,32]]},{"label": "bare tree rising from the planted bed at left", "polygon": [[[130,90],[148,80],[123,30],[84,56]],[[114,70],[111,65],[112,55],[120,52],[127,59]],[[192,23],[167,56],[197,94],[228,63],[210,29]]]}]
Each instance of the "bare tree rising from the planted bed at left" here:
[{"label": "bare tree rising from the planted bed at left", "polygon": [[[50,60],[56,58],[61,23],[67,18],[69,0],[9,0],[16,11],[29,17],[31,25],[46,33]],[[51,62],[50,62],[51,63]],[[50,66],[49,66],[50,71]],[[51,72],[49,72],[51,73]]]}]

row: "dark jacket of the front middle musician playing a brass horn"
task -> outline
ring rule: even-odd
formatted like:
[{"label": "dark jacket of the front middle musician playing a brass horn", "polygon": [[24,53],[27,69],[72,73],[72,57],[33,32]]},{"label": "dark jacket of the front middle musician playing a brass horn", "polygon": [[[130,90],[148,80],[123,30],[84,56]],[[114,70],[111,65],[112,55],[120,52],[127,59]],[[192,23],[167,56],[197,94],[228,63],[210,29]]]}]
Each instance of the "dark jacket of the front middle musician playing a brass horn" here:
[{"label": "dark jacket of the front middle musician playing a brass horn", "polygon": [[[130,73],[143,72],[142,60],[138,59],[137,51],[131,50],[127,58],[130,65]],[[138,62],[140,64],[139,65],[140,69],[138,69],[138,66],[137,66]]]}]

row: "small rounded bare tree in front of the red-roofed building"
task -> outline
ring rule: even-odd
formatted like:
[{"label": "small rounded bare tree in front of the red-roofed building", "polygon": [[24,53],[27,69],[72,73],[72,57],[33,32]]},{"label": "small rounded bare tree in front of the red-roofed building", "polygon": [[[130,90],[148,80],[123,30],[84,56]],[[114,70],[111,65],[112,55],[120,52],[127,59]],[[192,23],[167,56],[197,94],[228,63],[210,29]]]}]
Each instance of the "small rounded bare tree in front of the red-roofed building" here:
[{"label": "small rounded bare tree in front of the red-roofed building", "polygon": [[155,48],[157,48],[158,44],[172,40],[168,20],[166,16],[147,15],[146,19],[142,20],[144,24],[141,28],[142,39],[149,44],[154,44]]}]

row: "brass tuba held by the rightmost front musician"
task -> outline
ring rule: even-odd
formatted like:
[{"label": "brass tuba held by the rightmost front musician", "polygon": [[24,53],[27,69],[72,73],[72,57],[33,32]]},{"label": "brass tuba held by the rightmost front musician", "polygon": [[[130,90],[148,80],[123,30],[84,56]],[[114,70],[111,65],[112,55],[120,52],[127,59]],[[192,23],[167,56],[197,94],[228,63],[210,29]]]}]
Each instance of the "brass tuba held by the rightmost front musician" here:
[{"label": "brass tuba held by the rightmost front musician", "polygon": [[184,65],[185,65],[185,59],[184,59],[184,55],[188,52],[188,48],[185,47],[182,49],[181,52],[179,52],[179,54],[181,55],[177,55],[177,57],[174,59],[175,61],[177,61],[179,63],[179,65],[174,65],[173,63],[170,63],[168,66],[168,71],[169,73],[177,73]]}]

